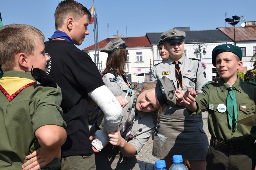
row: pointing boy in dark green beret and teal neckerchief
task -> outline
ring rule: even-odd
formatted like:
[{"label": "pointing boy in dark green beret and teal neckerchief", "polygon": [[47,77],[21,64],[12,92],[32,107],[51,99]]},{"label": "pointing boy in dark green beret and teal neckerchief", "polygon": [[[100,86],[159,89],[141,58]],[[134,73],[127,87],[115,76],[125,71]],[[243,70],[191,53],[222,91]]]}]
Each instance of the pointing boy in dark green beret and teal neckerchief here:
[{"label": "pointing boy in dark green beret and teal neckerchief", "polygon": [[241,60],[240,47],[216,46],[212,51],[212,64],[221,77],[219,82],[207,83],[197,97],[187,89],[183,97],[191,115],[208,111],[212,137],[206,156],[207,170],[256,168],[256,129],[235,123],[255,114],[256,86],[237,75],[243,66]]}]

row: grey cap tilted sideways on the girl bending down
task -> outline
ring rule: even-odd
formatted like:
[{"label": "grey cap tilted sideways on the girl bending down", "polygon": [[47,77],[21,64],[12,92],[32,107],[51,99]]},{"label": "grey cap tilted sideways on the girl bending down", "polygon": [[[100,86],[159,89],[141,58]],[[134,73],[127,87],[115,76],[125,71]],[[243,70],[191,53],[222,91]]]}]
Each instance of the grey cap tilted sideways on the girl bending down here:
[{"label": "grey cap tilted sideways on the girl bending down", "polygon": [[156,97],[163,107],[176,104],[175,86],[172,80],[166,76],[156,80]]}]

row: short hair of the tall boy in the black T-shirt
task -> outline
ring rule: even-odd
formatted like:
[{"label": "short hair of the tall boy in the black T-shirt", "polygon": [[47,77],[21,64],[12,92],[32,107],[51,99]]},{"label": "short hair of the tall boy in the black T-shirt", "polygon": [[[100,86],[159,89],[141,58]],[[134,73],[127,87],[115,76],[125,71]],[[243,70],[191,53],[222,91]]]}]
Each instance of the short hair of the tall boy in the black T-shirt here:
[{"label": "short hair of the tall boy in the black T-shirt", "polygon": [[74,0],[61,1],[57,6],[54,19],[55,19],[55,29],[61,28],[64,24],[65,19],[68,16],[74,18],[75,21],[80,20],[84,15],[88,16],[89,22],[91,21],[91,13],[82,4]]}]

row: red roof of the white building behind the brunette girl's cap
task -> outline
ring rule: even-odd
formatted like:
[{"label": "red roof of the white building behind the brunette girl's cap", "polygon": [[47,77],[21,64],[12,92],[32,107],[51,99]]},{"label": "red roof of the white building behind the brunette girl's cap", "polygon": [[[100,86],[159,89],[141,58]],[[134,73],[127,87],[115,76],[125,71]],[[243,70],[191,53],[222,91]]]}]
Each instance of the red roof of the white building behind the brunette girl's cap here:
[{"label": "red roof of the white building behind the brunette girl's cap", "polygon": [[[116,39],[116,38],[107,38],[99,42],[99,49],[102,49],[105,47],[105,45],[108,44],[109,41]],[[121,38],[125,41],[125,44],[128,45],[128,47],[150,47],[152,46],[150,42],[148,41],[148,38],[146,36],[143,37],[127,37],[127,38]],[[83,50],[92,50],[94,49],[94,44],[84,48]]]}]

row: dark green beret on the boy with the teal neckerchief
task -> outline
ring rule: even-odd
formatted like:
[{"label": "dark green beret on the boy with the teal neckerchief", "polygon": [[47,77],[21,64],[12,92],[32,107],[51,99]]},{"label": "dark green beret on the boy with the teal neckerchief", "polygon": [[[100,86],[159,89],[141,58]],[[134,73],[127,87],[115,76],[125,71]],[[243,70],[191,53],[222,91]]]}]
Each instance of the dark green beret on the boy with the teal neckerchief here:
[{"label": "dark green beret on the boy with the teal neckerchief", "polygon": [[242,50],[241,50],[240,47],[234,46],[232,44],[222,44],[222,45],[216,46],[212,50],[211,62],[212,62],[212,65],[214,67],[216,67],[216,57],[217,57],[217,55],[219,55],[220,53],[226,52],[226,51],[236,54],[242,61],[243,53],[242,53]]}]

